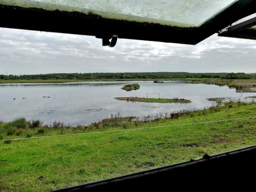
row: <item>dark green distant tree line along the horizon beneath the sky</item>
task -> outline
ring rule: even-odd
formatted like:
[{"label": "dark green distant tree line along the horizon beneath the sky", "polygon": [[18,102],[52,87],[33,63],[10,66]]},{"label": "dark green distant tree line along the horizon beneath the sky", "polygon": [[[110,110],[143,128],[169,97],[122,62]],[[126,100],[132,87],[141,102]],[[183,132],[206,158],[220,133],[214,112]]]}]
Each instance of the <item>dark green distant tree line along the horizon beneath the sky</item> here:
[{"label": "dark green distant tree line along the horizon beneath the sky", "polygon": [[222,78],[250,79],[256,74],[245,73],[187,73],[187,72],[145,72],[145,73],[52,73],[38,75],[0,75],[0,80],[29,79],[164,79],[164,78]]}]

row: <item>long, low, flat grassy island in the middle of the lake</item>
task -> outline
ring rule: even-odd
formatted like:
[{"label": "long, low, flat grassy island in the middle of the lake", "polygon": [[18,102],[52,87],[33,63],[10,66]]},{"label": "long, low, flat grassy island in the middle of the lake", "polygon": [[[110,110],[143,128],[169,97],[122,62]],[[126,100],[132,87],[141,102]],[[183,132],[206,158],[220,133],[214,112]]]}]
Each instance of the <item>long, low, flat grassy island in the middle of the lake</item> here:
[{"label": "long, low, flat grassy island in the middle of the lake", "polygon": [[187,99],[159,99],[159,98],[142,98],[142,97],[115,97],[118,100],[136,101],[136,102],[150,102],[150,103],[190,103]]}]

